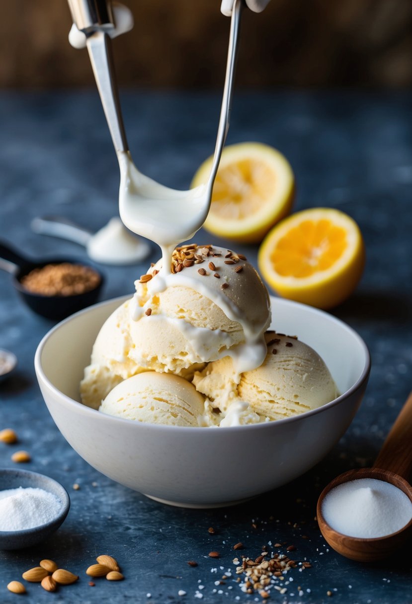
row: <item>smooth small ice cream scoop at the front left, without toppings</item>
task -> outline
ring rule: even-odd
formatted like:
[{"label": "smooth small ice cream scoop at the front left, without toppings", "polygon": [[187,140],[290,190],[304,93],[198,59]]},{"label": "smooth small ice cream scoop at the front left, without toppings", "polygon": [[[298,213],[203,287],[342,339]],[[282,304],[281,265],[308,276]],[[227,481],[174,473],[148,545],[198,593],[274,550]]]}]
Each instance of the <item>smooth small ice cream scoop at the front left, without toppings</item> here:
[{"label": "smooth small ice cream scoop at the front left, without toppings", "polygon": [[183,377],[146,371],[113,388],[100,411],[135,422],[200,426],[204,397]]}]

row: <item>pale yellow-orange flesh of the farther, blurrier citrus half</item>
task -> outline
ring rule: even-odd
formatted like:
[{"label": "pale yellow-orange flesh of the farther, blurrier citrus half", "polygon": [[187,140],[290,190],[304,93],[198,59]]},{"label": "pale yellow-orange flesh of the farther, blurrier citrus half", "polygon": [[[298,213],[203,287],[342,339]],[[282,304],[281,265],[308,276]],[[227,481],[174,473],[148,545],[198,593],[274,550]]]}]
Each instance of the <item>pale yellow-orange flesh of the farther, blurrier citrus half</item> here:
[{"label": "pale yellow-orange flesh of the farther, blurrier citrus half", "polygon": [[254,214],[270,191],[276,187],[276,175],[262,159],[240,159],[219,170],[214,181],[212,211],[225,219],[240,220]]}]

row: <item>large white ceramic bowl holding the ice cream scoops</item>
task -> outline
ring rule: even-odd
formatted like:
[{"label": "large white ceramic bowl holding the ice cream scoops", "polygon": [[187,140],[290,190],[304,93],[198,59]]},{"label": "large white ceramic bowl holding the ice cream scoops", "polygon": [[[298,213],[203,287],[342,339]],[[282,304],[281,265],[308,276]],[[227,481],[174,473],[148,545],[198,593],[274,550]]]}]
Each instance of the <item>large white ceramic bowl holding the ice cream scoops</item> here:
[{"label": "large white ceramic bowl holding the ice cream scoops", "polygon": [[[109,478],[164,503],[217,507],[297,478],[346,431],[367,384],[370,357],[349,326],[321,310],[272,298],[272,329],[293,333],[323,357],[343,394],[301,416],[233,428],[143,424],[80,403],[79,382],[106,318],[126,298],[70,316],[45,335],[35,367],[45,402],[69,444]],[[264,451],[259,463],[256,451]]]}]

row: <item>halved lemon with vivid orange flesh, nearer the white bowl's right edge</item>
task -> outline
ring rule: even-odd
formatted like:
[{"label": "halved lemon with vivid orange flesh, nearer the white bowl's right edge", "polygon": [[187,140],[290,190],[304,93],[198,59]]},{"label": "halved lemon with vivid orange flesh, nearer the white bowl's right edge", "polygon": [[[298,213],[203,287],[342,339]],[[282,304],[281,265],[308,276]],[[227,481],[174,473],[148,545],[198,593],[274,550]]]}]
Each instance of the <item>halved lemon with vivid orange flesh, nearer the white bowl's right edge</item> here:
[{"label": "halved lemon with vivid orange flesh, nearer the white bowl's right edge", "polygon": [[259,249],[260,272],[284,298],[332,308],[352,294],[365,251],[355,220],[333,208],[292,214],[272,228]]}]

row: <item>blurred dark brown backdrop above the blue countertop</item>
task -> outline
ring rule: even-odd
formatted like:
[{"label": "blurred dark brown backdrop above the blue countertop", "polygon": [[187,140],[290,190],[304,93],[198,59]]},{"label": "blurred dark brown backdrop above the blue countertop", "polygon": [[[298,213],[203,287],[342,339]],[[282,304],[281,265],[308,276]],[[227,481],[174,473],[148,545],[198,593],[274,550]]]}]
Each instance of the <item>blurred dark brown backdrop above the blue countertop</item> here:
[{"label": "blurred dark brown backdrop above the blue countertop", "polygon": [[[229,19],[220,0],[124,0],[132,32],[114,41],[121,85],[222,85]],[[66,0],[13,0],[0,22],[0,87],[94,85],[68,43]],[[272,0],[244,11],[238,86],[408,86],[411,0]]]}]

